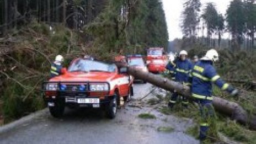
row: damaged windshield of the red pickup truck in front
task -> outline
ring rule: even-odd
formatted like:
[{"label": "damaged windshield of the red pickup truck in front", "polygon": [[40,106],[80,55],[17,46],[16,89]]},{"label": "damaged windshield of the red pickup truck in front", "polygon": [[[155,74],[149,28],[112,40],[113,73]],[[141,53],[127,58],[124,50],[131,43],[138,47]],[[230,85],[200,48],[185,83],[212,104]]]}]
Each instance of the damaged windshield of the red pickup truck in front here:
[{"label": "damaged windshield of the red pickup truck in front", "polygon": [[103,62],[90,61],[78,59],[74,61],[68,68],[68,72],[89,72],[89,71],[103,71],[103,72],[115,72],[116,66],[109,65]]}]

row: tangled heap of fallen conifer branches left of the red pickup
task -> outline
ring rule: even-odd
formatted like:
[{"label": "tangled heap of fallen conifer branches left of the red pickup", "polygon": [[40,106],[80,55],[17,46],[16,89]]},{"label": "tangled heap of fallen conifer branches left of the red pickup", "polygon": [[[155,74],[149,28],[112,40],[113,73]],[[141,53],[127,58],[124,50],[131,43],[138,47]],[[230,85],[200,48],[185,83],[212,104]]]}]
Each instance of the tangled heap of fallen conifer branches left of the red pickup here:
[{"label": "tangled heap of fallen conifer branches left of the red pickup", "polygon": [[73,42],[77,40],[75,33],[71,37],[72,32],[63,26],[57,26],[54,31],[49,31],[46,24],[30,23],[15,35],[20,42],[10,44],[15,51],[3,56],[0,65],[10,77],[6,79],[1,73],[4,88],[0,98],[5,122],[44,108],[41,84],[49,78],[50,62],[57,54],[65,56],[67,63],[76,57],[72,55],[69,60],[66,56],[68,45],[70,55],[81,54]]}]

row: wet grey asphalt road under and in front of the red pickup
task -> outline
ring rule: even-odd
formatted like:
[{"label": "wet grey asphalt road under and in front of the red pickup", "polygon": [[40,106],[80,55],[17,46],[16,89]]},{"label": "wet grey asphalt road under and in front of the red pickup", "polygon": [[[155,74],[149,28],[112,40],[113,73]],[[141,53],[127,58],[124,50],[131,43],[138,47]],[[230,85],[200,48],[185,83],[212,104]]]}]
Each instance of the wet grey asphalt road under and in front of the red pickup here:
[{"label": "wet grey asphalt road under and in front of the red pickup", "polygon": [[[163,115],[138,100],[152,89],[151,84],[135,84],[134,100],[118,110],[115,119],[105,118],[99,110],[66,110],[62,119],[52,118],[48,111],[24,124],[0,133],[0,143],[199,143],[184,133],[193,122]],[[153,97],[153,96],[150,96]],[[140,119],[138,114],[149,112],[156,119]],[[173,132],[157,131],[171,126]]]}]

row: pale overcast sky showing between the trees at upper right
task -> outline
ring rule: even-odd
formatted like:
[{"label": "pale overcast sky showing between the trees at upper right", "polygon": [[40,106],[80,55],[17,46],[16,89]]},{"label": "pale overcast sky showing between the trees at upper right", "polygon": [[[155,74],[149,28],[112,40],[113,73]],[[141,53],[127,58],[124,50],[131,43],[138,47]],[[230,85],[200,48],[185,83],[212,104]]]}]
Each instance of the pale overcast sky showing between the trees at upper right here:
[{"label": "pale overcast sky showing between the trees at upper right", "polygon": [[[169,40],[182,38],[182,30],[180,29],[180,15],[183,11],[183,3],[185,0],[162,0],[164,11],[166,13],[166,22],[168,25]],[[225,14],[231,0],[201,0],[202,8],[207,2],[213,2],[217,11]]]}]

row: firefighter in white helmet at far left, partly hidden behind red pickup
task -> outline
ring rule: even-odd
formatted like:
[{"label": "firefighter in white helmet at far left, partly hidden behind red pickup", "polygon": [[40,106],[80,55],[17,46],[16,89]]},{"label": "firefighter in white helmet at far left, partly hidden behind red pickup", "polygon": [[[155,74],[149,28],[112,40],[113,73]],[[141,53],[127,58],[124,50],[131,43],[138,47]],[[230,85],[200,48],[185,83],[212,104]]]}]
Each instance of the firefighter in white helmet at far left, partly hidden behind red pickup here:
[{"label": "firefighter in white helmet at far left, partly hidden behind red pickup", "polygon": [[62,70],[63,56],[57,55],[55,61],[51,64],[51,78],[59,76]]}]

